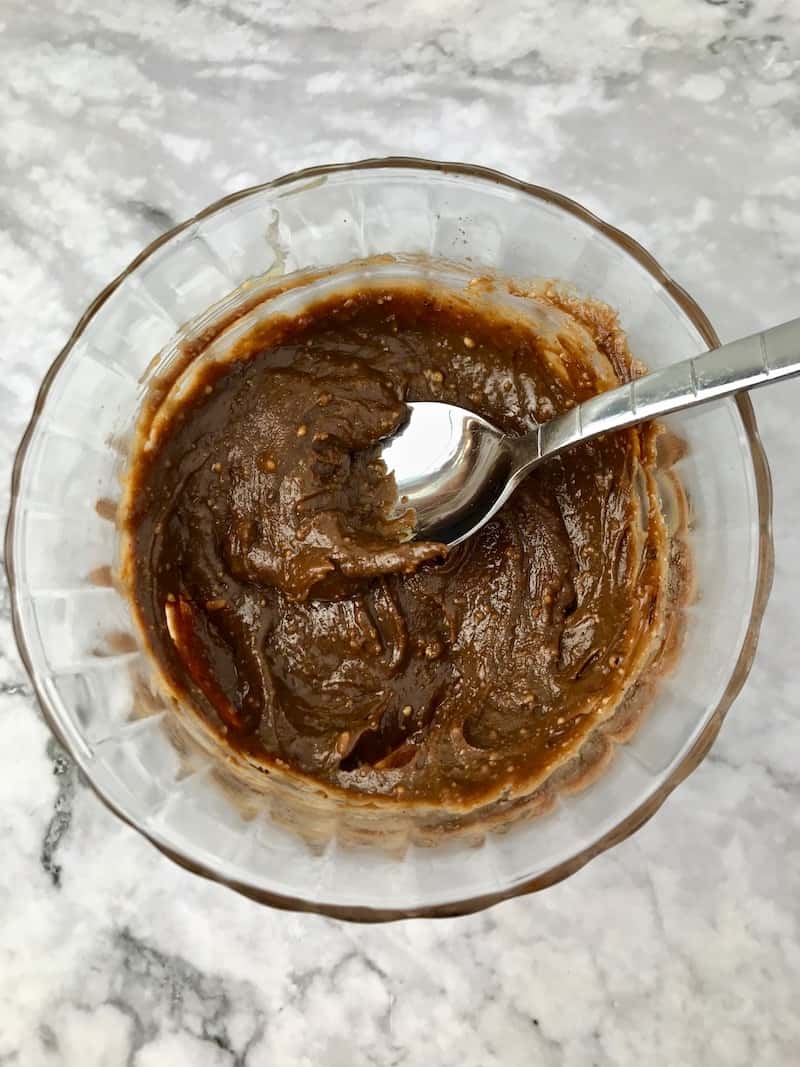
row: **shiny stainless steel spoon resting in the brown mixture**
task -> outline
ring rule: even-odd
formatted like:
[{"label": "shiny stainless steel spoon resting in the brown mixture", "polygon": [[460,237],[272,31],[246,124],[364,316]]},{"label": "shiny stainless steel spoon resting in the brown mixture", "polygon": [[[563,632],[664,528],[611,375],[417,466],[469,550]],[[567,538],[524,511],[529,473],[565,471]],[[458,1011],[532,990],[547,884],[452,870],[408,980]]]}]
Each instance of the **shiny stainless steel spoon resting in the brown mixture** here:
[{"label": "shiny stainless steel spoon resting in the brown mixture", "polygon": [[506,503],[535,466],[581,441],[800,375],[800,319],[723,345],[601,393],[523,436],[447,403],[410,403],[383,443],[416,540],[458,544]]}]

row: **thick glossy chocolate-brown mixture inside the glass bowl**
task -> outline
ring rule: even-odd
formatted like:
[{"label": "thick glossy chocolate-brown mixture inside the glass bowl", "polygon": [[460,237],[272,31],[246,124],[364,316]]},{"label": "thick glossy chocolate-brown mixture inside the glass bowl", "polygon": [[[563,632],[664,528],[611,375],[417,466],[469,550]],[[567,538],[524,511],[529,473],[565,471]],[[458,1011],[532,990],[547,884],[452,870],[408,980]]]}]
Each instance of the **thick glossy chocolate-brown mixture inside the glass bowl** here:
[{"label": "thick glossy chocolate-brown mixture inside the glass bowl", "polygon": [[129,475],[130,588],[171,688],[335,790],[466,810],[535,787],[669,638],[658,430],[549,461],[449,553],[410,540],[375,445],[406,401],[522,433],[634,372],[613,314],[555,288],[526,317],[398,283],[259,328]]}]

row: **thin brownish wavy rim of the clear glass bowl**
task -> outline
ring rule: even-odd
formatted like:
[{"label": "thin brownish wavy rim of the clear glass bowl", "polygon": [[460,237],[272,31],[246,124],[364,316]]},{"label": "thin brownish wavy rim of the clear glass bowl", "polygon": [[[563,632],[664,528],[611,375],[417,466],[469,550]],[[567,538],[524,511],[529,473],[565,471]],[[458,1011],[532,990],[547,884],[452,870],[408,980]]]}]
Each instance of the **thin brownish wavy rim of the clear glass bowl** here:
[{"label": "thin brownish wavy rim of the clear glass bowl", "polygon": [[155,845],[159,851],[193,874],[201,875],[211,881],[217,881],[221,885],[227,886],[229,889],[236,890],[258,904],[267,904],[274,908],[290,911],[316,912],[334,919],[343,919],[354,922],[387,922],[397,919],[446,918],[469,914],[490,907],[493,904],[497,904],[500,901],[522,896],[540,889],[545,889],[548,886],[561,881],[563,878],[566,878],[571,874],[578,871],[581,866],[588,863],[589,860],[598,856],[601,853],[604,853],[613,845],[619,844],[621,841],[624,841],[627,837],[639,829],[639,827],[651,818],[661,807],[670,793],[672,793],[672,791],[701,763],[717,737],[722,720],[727,714],[733,701],[739,694],[748,674],[750,673],[758,643],[764,612],[766,610],[769,593],[772,587],[774,570],[774,550],[772,544],[772,485],[769,465],[758,433],[753,405],[748,394],[740,393],[734,398],[734,402],[738,409],[738,414],[741,418],[747,436],[750,460],[755,480],[758,512],[758,553],[756,562],[755,590],[753,593],[753,603],[748,630],[742,640],[739,656],[722,697],[720,698],[717,707],[714,710],[702,733],[698,736],[691,749],[684,757],[683,761],[674,768],[669,778],[667,778],[660,786],[635,811],[629,813],[602,838],[589,845],[587,848],[581,849],[575,856],[562,861],[541,875],[526,879],[525,881],[511,886],[508,889],[501,889],[496,892],[467,897],[463,901],[425,905],[415,908],[373,908],[371,906],[336,905],[329,904],[324,901],[310,901],[268,890],[257,890],[246,883],[227,878],[218,871],[214,871],[213,867],[208,866],[194,858],[190,858],[179,850],[176,850],[172,845],[160,840],[158,833],[137,822],[131,815],[123,811],[115,801],[110,799],[93,779],[89,766],[83,765],[86,761],[83,760],[82,754],[75,750],[74,746],[70,745],[69,739],[64,735],[53,710],[50,706],[48,697],[41,685],[39,680],[36,678],[30,652],[25,641],[20,605],[18,602],[19,589],[16,579],[14,528],[17,506],[19,503],[19,485],[28,448],[33,439],[33,434],[38,424],[38,419],[44,409],[50,387],[62,365],[68,359],[74,346],[100,307],[102,307],[111,294],[130,274],[132,274],[146,259],[153,256],[163,244],[171,241],[174,237],[189,229],[202,220],[237,203],[237,201],[245,200],[256,193],[279,189],[283,186],[295,182],[326,178],[332,174],[371,170],[406,170],[412,172],[433,172],[452,174],[466,178],[478,178],[482,181],[490,181],[503,186],[508,189],[516,190],[517,192],[522,192],[535,200],[543,201],[560,208],[591,228],[601,233],[604,237],[611,240],[614,244],[627,253],[627,255],[635,259],[639,266],[642,267],[679,306],[695,330],[700,333],[709,349],[716,348],[720,345],[719,337],[717,336],[717,333],[715,332],[714,327],[705,313],[700,308],[689,293],[681,285],[678,285],[667,273],[667,271],[663,270],[650,252],[647,252],[633,237],[625,234],[618,227],[605,222],[594,214],[594,212],[590,211],[588,208],[578,204],[571,197],[565,196],[563,193],[556,192],[555,190],[548,189],[544,186],[534,185],[519,178],[511,177],[501,171],[486,166],[463,162],[444,162],[411,156],[388,156],[385,158],[363,159],[355,162],[329,163],[304,168],[302,170],[292,171],[288,174],[282,175],[271,181],[250,186],[223,196],[220,200],[214,201],[202,211],[198,211],[191,218],[178,223],[176,226],[173,226],[165,233],[159,235],[154,241],[147,244],[146,248],[144,248],[142,252],[140,252],[139,255],[135,256],[135,258],[132,259],[131,262],[123,271],[121,271],[121,273],[117,274],[116,277],[90,303],[76,323],[68,340],[46,371],[36,395],[31,417],[22,433],[22,437],[14,459],[11,476],[9,515],[5,524],[4,538],[5,573],[11,591],[12,627],[20,657],[26,671],[31,679],[36,699],[43,711],[48,727],[55,734],[64,748],[69,752],[71,759],[75,760],[76,764],[83,771],[95,795],[99,797],[106,807],[123,819],[123,822],[127,823],[128,826],[141,833],[147,841]]}]

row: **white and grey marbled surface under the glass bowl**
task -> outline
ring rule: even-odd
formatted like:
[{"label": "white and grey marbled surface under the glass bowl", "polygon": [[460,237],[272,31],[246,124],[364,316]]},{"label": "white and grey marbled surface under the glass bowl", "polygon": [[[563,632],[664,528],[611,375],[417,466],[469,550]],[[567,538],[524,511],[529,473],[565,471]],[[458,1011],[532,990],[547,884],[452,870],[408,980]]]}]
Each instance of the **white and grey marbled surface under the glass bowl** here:
[{"label": "white and grey marbled surface under the glass bowl", "polygon": [[[0,448],[173,220],[407,153],[556,187],[723,338],[800,314],[796,0],[4,0]],[[756,398],[775,588],[711,755],[633,840],[483,914],[361,928],[173,866],[49,738],[0,618],[0,1065],[800,1063],[800,385]]]}]

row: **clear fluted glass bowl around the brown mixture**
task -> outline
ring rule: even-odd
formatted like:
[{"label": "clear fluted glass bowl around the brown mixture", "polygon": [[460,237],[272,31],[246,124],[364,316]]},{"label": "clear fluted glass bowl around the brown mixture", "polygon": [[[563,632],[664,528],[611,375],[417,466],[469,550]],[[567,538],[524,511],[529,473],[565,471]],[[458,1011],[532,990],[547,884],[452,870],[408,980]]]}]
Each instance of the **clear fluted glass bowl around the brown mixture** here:
[{"label": "clear fluted glass bowl around the brown mixture", "polygon": [[454,914],[543,888],[639,827],[714,740],[750,668],[772,573],[769,473],[748,398],[671,420],[688,445],[676,471],[698,591],[676,666],[603,775],[503,832],[436,841],[380,816],[378,844],[313,795],[302,799],[314,818],[295,832],[291,798],[249,789],[193,732],[195,717],[179,727],[151,685],[111,579],[119,475],[147,385],[181,341],[277,278],[386,253],[562,278],[615,307],[651,367],[718,344],[643,249],[557,193],[422,160],[315,168],[165,234],[91,305],[42,386],[6,529],[22,657],[50,726],[106,803],[198,874],[362,920]]}]

